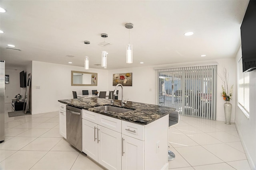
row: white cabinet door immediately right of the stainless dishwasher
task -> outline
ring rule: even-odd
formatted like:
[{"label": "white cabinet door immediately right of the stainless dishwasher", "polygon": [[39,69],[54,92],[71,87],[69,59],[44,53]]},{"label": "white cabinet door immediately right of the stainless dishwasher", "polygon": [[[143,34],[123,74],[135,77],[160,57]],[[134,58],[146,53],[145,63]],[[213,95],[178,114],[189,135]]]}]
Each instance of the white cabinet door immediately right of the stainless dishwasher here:
[{"label": "white cabinet door immediately right of the stainless dishwasher", "polygon": [[98,162],[97,124],[82,119],[82,151]]}]

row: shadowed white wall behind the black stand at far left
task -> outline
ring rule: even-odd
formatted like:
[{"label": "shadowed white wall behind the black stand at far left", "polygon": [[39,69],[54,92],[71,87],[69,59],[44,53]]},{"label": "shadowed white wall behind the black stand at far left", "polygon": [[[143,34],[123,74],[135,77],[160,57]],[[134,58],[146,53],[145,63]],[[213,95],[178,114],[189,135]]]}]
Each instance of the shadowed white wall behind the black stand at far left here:
[{"label": "shadowed white wall behind the black stand at far left", "polygon": [[[20,72],[22,70],[5,69],[5,74],[9,75],[9,84],[5,84],[5,103],[11,103],[17,94],[23,95],[26,88],[20,88]],[[23,99],[22,98],[22,99]]]}]

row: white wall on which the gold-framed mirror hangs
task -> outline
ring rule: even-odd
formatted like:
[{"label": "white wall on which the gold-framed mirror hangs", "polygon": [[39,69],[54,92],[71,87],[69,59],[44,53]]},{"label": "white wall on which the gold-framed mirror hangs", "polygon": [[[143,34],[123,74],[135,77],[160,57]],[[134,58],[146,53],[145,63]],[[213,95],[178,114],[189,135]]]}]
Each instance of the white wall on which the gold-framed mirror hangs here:
[{"label": "white wall on which the gold-framed mirror hangs", "polygon": [[[71,86],[71,70],[98,73],[98,86]],[[83,67],[32,61],[32,114],[58,111],[62,99],[73,98],[72,91],[82,95],[82,90],[107,91],[108,71]],[[40,89],[36,89],[39,86]]]}]

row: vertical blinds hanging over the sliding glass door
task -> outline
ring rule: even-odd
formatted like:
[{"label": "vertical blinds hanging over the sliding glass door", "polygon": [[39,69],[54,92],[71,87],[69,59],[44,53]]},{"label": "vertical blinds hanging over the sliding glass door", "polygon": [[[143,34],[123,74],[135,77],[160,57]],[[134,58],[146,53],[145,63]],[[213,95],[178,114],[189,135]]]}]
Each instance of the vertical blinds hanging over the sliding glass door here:
[{"label": "vertical blinds hanging over the sliding glass door", "polygon": [[182,115],[215,120],[216,67],[211,65],[156,70],[158,104],[174,107]]}]

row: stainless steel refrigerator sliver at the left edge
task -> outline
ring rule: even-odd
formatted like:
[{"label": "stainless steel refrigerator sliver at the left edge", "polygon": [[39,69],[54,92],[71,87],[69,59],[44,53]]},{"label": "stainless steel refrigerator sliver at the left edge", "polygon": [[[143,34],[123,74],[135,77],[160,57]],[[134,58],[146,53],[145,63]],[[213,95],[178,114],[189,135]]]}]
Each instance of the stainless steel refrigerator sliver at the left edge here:
[{"label": "stainless steel refrigerator sliver at the left edge", "polygon": [[5,91],[5,63],[0,61],[0,143],[4,141],[4,91]]}]

